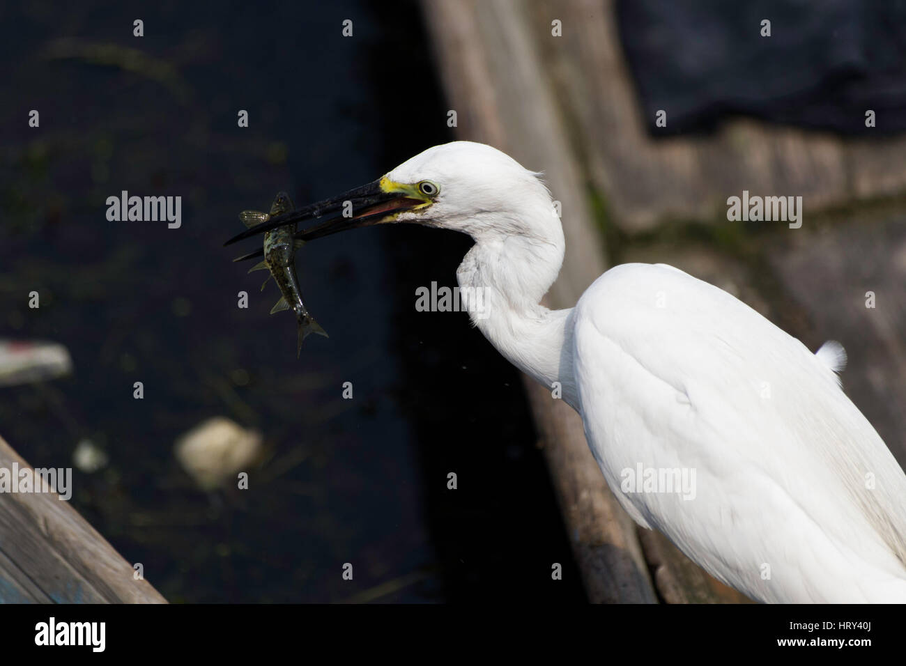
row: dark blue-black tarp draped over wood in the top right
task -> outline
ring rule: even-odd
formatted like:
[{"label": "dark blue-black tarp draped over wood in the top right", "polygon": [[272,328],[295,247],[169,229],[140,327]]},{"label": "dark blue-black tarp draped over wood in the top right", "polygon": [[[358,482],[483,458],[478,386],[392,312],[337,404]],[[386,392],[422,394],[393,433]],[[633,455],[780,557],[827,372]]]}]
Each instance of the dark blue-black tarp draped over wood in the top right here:
[{"label": "dark blue-black tarp draped over wood in the top right", "polygon": [[906,0],[620,0],[617,16],[654,134],[709,130],[732,113],[906,130]]}]

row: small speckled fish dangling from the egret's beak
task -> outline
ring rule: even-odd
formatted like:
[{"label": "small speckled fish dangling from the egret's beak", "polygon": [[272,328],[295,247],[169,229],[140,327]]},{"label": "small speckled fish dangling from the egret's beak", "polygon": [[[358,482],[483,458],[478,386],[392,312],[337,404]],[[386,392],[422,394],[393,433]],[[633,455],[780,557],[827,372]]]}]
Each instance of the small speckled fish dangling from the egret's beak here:
[{"label": "small speckled fish dangling from the egret's beak", "polygon": [[[271,212],[263,213],[259,210],[244,210],[239,213],[239,219],[242,220],[246,227],[255,227],[266,222],[271,217],[289,213],[294,209],[293,201],[285,192],[280,192],[274,199],[271,206]],[[302,341],[309,333],[318,333],[327,337],[327,333],[321,328],[320,324],[314,321],[305,304],[302,302],[302,294],[299,291],[299,283],[295,279],[295,251],[304,246],[304,241],[295,240],[295,225],[277,227],[273,231],[265,233],[265,260],[255,265],[248,272],[268,270],[271,275],[267,280],[274,277],[278,287],[280,287],[280,300],[271,309],[271,314],[288,310],[292,307],[295,313],[295,320],[299,325],[299,343],[296,347],[296,358],[302,350]],[[261,285],[261,290],[265,290],[265,284]]]}]

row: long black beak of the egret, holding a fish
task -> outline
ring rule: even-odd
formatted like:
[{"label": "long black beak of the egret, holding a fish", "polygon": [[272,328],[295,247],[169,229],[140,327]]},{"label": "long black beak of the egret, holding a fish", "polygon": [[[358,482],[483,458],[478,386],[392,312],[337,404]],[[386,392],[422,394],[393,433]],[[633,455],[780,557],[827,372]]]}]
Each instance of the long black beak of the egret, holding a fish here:
[{"label": "long black beak of the egret, holding a fish", "polygon": [[[346,202],[349,202],[349,204],[347,205]],[[423,203],[424,201],[419,199],[407,198],[402,192],[385,192],[381,189],[381,180],[378,179],[368,185],[361,186],[361,188],[343,192],[336,197],[324,199],[303,208],[296,208],[291,213],[272,217],[260,225],[246,229],[241,234],[233,236],[224,245],[232,245],[237,241],[264,234],[277,227],[310,222],[328,216],[320,224],[296,232],[296,238],[309,241],[322,236],[330,236],[340,231],[346,231],[347,229],[377,224],[391,213],[413,208]],[[347,213],[344,216],[343,213],[347,211],[351,211],[352,215],[350,216]],[[262,254],[263,251],[258,250],[250,255],[241,256],[236,261],[251,259]]]}]

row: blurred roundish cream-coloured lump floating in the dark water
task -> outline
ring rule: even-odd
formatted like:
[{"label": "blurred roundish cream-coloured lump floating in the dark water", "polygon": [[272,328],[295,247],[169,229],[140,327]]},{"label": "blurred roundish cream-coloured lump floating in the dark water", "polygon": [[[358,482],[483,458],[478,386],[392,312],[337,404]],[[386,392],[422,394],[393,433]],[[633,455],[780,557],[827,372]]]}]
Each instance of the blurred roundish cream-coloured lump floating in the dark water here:
[{"label": "blurred roundish cream-coloured lump floating in the dark water", "polygon": [[261,452],[262,438],[233,420],[208,419],[177,439],[176,457],[203,490],[213,490],[247,471]]}]

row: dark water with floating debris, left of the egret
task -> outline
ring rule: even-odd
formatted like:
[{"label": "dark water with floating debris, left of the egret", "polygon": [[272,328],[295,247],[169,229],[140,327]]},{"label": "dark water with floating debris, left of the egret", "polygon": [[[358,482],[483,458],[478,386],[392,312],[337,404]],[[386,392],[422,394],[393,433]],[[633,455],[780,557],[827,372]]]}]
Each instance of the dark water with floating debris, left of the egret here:
[{"label": "dark water with floating debris, left of the egret", "polygon": [[[107,468],[74,470],[73,506],[173,602],[583,599],[517,373],[464,314],[414,308],[418,286],[455,285],[466,237],[305,247],[331,337],[298,361],[273,283],[230,261],[254,244],[221,246],[278,189],[330,196],[453,138],[419,5],[0,11],[0,337],[75,364],[0,389],[0,434],[39,467],[69,466],[79,439],[104,449]],[[124,189],[181,196],[182,227],[108,221]],[[248,490],[204,493],[173,456],[215,415],[265,436]]]}]

